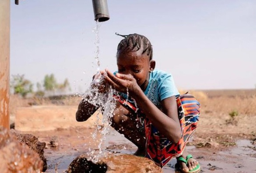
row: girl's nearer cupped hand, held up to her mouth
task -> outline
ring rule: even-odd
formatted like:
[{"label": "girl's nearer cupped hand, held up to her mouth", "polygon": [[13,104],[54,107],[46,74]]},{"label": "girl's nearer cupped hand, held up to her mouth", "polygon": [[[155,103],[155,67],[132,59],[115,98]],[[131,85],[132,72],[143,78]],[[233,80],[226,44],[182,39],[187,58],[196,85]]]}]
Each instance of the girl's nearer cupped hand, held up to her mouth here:
[{"label": "girl's nearer cupped hand, held up to her mouth", "polygon": [[138,86],[136,80],[132,75],[125,75],[117,73],[116,76],[108,70],[106,71],[105,80],[117,91],[119,92],[127,92],[127,88],[129,93],[136,93],[140,87]]}]

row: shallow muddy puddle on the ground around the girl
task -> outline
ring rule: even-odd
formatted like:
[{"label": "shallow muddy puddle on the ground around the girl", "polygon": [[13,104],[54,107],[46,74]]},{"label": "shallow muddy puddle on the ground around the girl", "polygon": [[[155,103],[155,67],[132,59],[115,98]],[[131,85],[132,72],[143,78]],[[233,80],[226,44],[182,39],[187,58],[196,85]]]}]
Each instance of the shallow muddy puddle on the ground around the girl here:
[{"label": "shallow muddy puddle on the ground around the girl", "polygon": [[[48,147],[45,149],[45,157],[47,159],[49,173],[62,173],[67,170],[73,159],[80,154],[88,151],[88,148],[98,150],[97,145],[91,138],[90,134],[93,129],[72,129],[60,130],[57,135],[59,137],[59,146],[54,149]],[[49,140],[53,133],[40,132],[45,141]],[[75,135],[76,134],[76,135]],[[87,134],[87,135],[85,135]],[[238,140],[235,147],[230,147],[226,151],[214,151],[211,148],[195,148],[188,146],[187,150],[200,163],[201,172],[214,173],[252,173],[256,172],[256,149],[255,144],[251,144],[249,140]],[[110,130],[109,135],[104,142],[105,152],[132,154],[136,151],[136,146],[121,136],[119,133]],[[172,159],[164,168],[164,173],[178,172],[175,170],[176,159]],[[56,171],[57,170],[57,171]]]}]

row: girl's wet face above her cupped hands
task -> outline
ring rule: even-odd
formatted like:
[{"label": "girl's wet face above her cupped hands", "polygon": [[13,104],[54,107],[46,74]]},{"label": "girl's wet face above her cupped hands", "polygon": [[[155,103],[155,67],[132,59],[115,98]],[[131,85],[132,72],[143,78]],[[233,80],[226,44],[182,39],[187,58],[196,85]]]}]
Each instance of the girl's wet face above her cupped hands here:
[{"label": "girl's wet face above her cupped hands", "polygon": [[136,52],[119,51],[117,53],[118,73],[132,75],[143,91],[146,90],[149,82],[149,72],[153,70],[150,66],[149,56],[142,55],[140,50]]}]

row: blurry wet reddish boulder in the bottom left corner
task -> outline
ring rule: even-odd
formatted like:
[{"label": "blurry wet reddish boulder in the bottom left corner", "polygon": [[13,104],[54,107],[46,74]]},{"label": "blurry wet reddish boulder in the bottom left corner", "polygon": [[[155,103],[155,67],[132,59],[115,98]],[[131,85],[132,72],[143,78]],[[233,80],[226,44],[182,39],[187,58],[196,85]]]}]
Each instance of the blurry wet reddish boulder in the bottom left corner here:
[{"label": "blurry wet reddish boulder in the bottom left corner", "polygon": [[38,153],[18,141],[16,136],[0,126],[0,172],[40,173],[43,170],[43,161]]}]

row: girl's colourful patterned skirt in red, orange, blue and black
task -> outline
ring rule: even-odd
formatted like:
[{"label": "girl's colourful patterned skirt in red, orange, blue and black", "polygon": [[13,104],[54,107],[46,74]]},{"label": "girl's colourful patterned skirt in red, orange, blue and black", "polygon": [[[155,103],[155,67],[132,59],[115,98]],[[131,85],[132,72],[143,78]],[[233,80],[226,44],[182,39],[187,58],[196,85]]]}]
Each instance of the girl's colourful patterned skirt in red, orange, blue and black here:
[{"label": "girl's colourful patterned skirt in red, orange, blue and black", "polygon": [[182,129],[182,137],[178,143],[172,143],[162,135],[144,113],[136,107],[136,103],[132,99],[127,99],[127,101],[120,95],[114,95],[114,98],[137,113],[137,118],[145,129],[147,158],[163,167],[171,158],[182,154],[186,143],[197,127],[200,115],[200,103],[193,95],[186,93],[176,97]]}]

